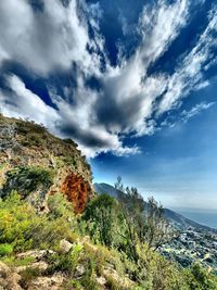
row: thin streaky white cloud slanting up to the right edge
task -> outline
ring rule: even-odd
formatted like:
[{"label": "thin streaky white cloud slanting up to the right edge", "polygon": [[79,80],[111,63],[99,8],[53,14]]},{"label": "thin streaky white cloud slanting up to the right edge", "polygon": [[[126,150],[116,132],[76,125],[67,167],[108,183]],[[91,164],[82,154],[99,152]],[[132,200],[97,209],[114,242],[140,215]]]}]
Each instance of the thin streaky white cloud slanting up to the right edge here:
[{"label": "thin streaky white cloud slanting up to the right edge", "polygon": [[217,47],[215,34],[217,31],[216,7],[209,14],[209,23],[200,36],[200,39],[191,52],[183,59],[175,74],[168,78],[167,92],[164,94],[158,108],[159,113],[170,110],[177,102],[191,90],[204,88],[208,85],[203,78],[205,66],[214,64],[212,49]]}]

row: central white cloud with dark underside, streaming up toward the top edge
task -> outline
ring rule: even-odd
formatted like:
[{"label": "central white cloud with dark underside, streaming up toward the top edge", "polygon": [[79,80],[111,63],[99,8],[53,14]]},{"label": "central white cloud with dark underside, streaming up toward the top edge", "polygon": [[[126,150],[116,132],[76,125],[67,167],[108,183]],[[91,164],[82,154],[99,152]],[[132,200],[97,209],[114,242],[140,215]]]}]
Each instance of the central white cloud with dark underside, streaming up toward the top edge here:
[{"label": "central white cloud with dark underside, streaming up toward the top edge", "polygon": [[[187,16],[187,0],[169,5],[158,1],[151,11],[144,9],[139,23],[142,43],[135,55],[122,60],[118,66],[103,75],[104,98],[99,106],[99,118],[108,130],[136,131],[137,136],[150,133],[146,118],[153,113],[154,102],[164,92],[167,83],[165,76],[148,76],[146,71],[176,38]],[[105,111],[108,114],[106,122],[102,114]]]}]

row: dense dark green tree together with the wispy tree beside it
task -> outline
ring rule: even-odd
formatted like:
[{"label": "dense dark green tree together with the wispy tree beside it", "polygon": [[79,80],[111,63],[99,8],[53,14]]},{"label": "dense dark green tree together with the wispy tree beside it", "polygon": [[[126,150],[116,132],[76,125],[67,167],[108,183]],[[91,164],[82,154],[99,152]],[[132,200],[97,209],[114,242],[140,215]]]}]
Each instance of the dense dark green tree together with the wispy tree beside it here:
[{"label": "dense dark green tree together with the wispy tree beside it", "polygon": [[149,249],[156,250],[176,232],[165,220],[162,205],[153,198],[145,206],[136,188],[125,189],[120,179],[116,188],[125,192],[118,201],[106,194],[92,199],[81,220],[93,242],[125,252],[138,263],[138,245],[145,243]]}]

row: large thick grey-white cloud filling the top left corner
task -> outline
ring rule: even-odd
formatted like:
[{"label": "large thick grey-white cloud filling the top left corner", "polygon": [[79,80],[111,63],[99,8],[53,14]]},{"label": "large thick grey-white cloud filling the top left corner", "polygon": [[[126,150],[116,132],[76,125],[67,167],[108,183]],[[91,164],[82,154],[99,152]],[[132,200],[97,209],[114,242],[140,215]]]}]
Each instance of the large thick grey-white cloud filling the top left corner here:
[{"label": "large thick grey-white cloud filling the top left corner", "polygon": [[26,0],[1,1],[0,61],[15,60],[39,74],[69,68],[73,61],[91,70],[97,60],[87,52],[91,40],[77,11],[76,0],[67,8],[46,0],[37,13]]}]

